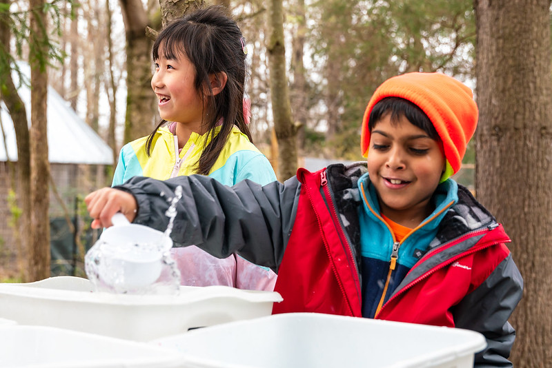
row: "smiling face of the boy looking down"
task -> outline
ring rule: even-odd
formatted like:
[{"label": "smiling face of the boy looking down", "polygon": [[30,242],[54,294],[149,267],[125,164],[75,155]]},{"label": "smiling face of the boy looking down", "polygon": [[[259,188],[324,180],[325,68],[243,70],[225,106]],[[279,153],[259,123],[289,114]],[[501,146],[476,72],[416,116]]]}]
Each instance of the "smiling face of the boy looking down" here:
[{"label": "smiling face of the boy looking down", "polygon": [[391,220],[413,228],[431,214],[430,199],[444,167],[442,143],[406,117],[392,123],[388,113],[374,125],[368,173],[382,214]]}]

